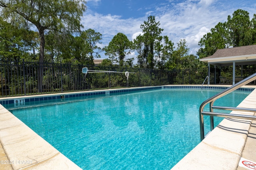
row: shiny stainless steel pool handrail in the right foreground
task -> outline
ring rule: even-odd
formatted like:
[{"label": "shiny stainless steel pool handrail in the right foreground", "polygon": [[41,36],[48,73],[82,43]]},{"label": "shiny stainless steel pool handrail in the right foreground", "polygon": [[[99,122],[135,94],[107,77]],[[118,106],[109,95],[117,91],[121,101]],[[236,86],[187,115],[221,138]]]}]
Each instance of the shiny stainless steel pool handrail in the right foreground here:
[{"label": "shiny stainless steel pool handrail in the right foreground", "polygon": [[[248,76],[247,78],[241,80],[240,82],[234,84],[233,86],[230,86],[229,88],[223,90],[222,92],[212,96],[211,98],[208,98],[205,100],[199,109],[199,121],[200,121],[200,138],[201,141],[204,139],[204,115],[210,115],[210,131],[214,129],[214,121],[213,116],[217,117],[230,117],[230,118],[238,118],[238,119],[250,119],[250,120],[256,120],[256,116],[250,116],[250,115],[237,115],[237,114],[229,114],[229,113],[214,113],[213,109],[224,109],[224,110],[236,110],[236,111],[253,111],[256,112],[256,109],[249,109],[249,108],[240,108],[240,107],[220,107],[220,106],[213,106],[214,102],[225,96],[226,94],[229,94],[233,92],[234,90],[256,80],[256,73]],[[203,111],[204,107],[210,103],[210,111]]]}]

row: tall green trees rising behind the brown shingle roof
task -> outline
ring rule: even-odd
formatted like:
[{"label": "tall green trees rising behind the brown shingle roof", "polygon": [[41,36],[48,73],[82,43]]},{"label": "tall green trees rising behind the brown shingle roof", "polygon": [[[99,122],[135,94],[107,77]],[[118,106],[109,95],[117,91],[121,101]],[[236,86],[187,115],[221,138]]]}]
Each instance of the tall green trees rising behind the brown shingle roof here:
[{"label": "tall green trees rising behind the brown shingle roof", "polygon": [[250,21],[249,13],[238,9],[228,21],[219,22],[210,33],[204,35],[198,45],[199,58],[213,55],[217,49],[253,45],[256,43],[256,15]]}]

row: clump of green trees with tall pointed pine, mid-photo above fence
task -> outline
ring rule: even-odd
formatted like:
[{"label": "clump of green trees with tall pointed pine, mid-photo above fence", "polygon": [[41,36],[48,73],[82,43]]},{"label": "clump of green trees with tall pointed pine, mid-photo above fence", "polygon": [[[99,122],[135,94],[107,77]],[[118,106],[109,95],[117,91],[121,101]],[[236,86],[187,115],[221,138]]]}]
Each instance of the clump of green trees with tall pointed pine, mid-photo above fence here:
[{"label": "clump of green trees with tall pointed pine, mid-photo above fence", "polygon": [[138,53],[138,66],[167,70],[197,67],[199,60],[194,55],[188,55],[186,40],[180,40],[174,50],[174,43],[168,36],[161,36],[163,29],[159,28],[159,25],[155,17],[150,16],[148,21],[144,21],[140,26],[143,34],[138,35],[133,42],[133,49]]}]

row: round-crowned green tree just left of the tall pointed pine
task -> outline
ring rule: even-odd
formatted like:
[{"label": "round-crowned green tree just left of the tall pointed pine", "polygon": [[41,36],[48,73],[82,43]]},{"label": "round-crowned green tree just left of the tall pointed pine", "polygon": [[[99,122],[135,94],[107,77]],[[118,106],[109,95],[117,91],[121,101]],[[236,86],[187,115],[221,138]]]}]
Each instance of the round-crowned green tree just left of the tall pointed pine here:
[{"label": "round-crowned green tree just left of the tall pointed pine", "polygon": [[124,66],[126,55],[130,54],[132,42],[123,33],[117,33],[110,41],[108,46],[104,48],[105,55],[108,55],[110,60]]}]

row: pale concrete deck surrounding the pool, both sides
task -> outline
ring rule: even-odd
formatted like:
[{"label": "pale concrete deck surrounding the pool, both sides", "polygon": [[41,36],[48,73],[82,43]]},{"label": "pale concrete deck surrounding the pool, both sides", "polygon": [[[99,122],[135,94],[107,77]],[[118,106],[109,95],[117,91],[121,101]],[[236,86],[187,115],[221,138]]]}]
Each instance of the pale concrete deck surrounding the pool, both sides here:
[{"label": "pale concrete deck surrounding the pool, both sides", "polygon": [[[256,90],[238,107],[256,108]],[[254,115],[251,112],[236,113]],[[255,153],[256,121],[224,119],[172,170],[246,170],[239,166],[241,158],[256,162]],[[81,168],[0,105],[0,169]]]}]

